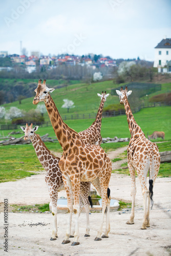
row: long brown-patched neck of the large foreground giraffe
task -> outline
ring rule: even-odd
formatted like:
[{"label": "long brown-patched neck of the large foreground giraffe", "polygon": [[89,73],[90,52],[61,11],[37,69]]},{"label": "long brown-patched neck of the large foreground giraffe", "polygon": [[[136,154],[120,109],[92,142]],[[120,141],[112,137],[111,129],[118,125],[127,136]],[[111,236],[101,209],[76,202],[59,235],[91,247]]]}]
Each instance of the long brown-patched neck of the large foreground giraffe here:
[{"label": "long brown-patched neck of the large foreground giraffe", "polygon": [[[80,140],[79,135],[63,122],[56,105],[49,95],[45,101],[49,118],[51,120],[55,135],[62,147],[63,152],[68,153],[70,148],[75,144],[76,140]],[[83,143],[83,141],[81,141]]]}]

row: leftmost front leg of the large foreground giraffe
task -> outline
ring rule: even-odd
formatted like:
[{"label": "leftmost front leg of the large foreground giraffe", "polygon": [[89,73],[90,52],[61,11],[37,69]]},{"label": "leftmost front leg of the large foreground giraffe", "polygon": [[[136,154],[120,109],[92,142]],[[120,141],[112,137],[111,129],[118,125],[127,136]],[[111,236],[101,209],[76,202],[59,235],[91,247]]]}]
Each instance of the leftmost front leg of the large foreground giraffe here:
[{"label": "leftmost front leg of the large foreground giraffe", "polygon": [[73,193],[72,193],[72,184],[69,177],[62,176],[63,184],[65,185],[66,193],[67,193],[67,207],[68,207],[68,225],[67,225],[67,232],[65,239],[62,241],[62,244],[68,244],[70,243],[69,237],[71,234],[71,222],[72,222],[72,213],[73,213]]}]

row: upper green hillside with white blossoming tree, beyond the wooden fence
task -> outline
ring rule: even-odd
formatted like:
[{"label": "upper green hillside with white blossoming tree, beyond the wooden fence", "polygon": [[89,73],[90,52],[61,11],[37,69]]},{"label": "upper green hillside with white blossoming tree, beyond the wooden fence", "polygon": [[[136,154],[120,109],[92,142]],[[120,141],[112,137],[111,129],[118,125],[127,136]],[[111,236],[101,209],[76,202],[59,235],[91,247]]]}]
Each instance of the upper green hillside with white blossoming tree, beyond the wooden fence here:
[{"label": "upper green hillside with white blossoming tree, beyond the wooden fence", "polygon": [[[5,80],[5,79],[4,79]],[[11,79],[12,80],[12,79]],[[31,79],[24,79],[30,82]],[[33,81],[33,80],[32,80]],[[35,80],[34,80],[35,81]],[[26,81],[25,81],[26,82]],[[37,82],[37,81],[36,81]],[[57,85],[57,80],[47,80],[47,86],[49,88]],[[51,95],[53,100],[59,110],[59,113],[62,115],[68,115],[67,109],[61,108],[63,99],[69,99],[74,102],[75,108],[70,109],[70,114],[86,114],[86,113],[97,113],[100,104],[100,97],[97,96],[97,93],[101,93],[102,91],[106,91],[107,93],[111,93],[111,89],[117,88],[118,84],[114,84],[113,81],[103,81],[92,83],[90,85],[86,83],[77,83],[68,86],[67,90],[65,88],[56,89]],[[157,94],[171,91],[171,83],[162,84],[161,91],[157,92]],[[151,94],[149,98],[156,95]],[[130,97],[134,97],[134,92]],[[36,109],[36,105],[33,105],[34,97],[27,98],[22,100],[22,104],[19,104],[18,101],[14,101],[12,103],[4,104],[5,108],[8,110],[11,106],[16,106],[18,109],[29,111],[31,109]],[[147,97],[142,98],[145,102],[147,101]],[[107,98],[104,106],[108,106],[109,104],[119,103],[118,96],[110,96]],[[44,104],[43,102],[39,104]],[[48,121],[48,114],[45,114],[45,120]]]}]

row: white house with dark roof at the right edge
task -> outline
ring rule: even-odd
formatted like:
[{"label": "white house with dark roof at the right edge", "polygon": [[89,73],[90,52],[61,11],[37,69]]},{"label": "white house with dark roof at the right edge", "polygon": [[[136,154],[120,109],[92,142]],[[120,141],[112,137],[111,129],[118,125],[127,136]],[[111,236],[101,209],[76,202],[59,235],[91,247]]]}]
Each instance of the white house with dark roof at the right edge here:
[{"label": "white house with dark roof at the right edge", "polygon": [[171,38],[164,38],[155,47],[154,68],[158,68],[158,72],[171,72]]}]

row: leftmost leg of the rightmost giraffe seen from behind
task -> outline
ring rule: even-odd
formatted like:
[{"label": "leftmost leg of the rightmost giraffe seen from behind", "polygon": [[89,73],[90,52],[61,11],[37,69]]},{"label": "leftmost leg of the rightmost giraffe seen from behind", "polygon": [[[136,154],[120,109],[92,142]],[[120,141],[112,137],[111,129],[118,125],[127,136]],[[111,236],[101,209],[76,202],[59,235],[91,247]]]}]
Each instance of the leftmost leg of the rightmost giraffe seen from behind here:
[{"label": "leftmost leg of the rightmost giraffe seen from behind", "polygon": [[135,168],[128,161],[127,166],[129,167],[130,176],[131,176],[131,196],[132,196],[132,208],[131,208],[131,216],[129,221],[126,224],[134,224],[134,207],[135,207],[135,195],[136,195],[136,184],[135,184]]}]

